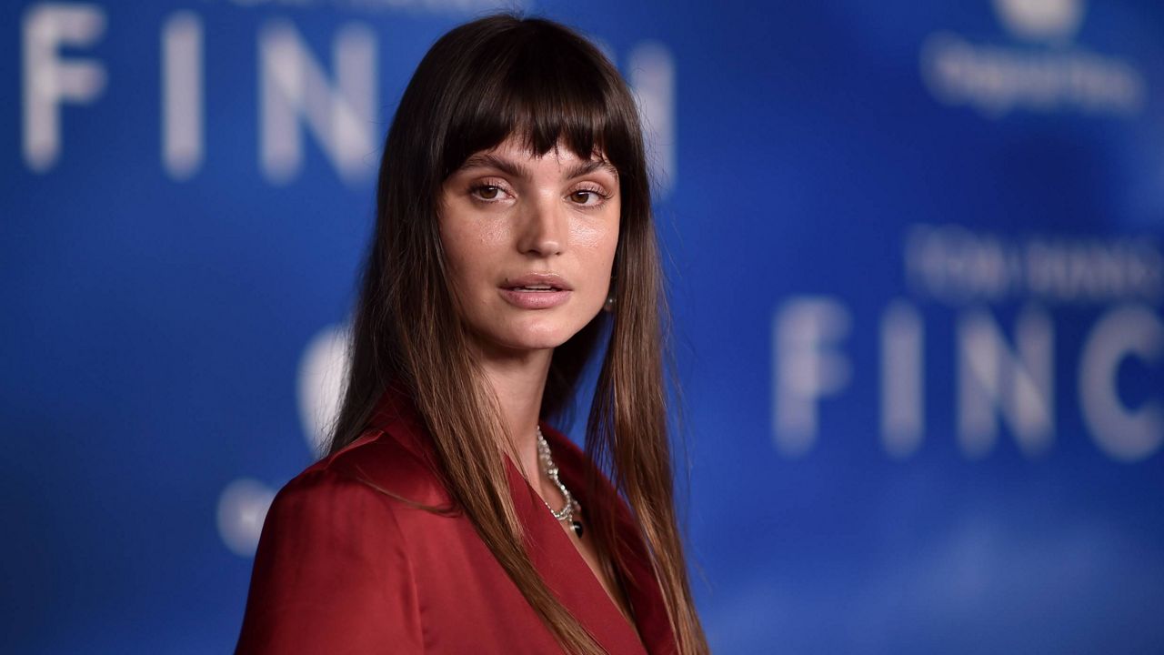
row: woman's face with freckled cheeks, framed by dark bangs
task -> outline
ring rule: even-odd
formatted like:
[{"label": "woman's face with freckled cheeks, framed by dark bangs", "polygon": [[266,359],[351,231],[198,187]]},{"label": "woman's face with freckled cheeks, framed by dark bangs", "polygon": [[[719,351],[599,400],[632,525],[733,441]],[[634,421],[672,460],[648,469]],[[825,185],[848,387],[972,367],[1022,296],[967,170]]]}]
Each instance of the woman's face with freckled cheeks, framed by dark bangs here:
[{"label": "woman's face with freckled cheeks, framed by dark bangs", "polygon": [[512,136],[445,181],[449,286],[487,352],[560,346],[602,310],[619,207],[608,162],[566,147],[539,157]]}]

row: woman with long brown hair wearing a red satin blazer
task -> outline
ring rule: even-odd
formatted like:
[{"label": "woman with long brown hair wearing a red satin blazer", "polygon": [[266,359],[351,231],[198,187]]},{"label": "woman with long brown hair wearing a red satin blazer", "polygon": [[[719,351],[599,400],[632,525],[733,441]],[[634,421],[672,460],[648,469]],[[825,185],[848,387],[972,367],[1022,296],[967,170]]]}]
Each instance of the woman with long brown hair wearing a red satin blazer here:
[{"label": "woman with long brown hair wearing a red satin blazer", "polygon": [[[441,37],[384,147],[328,456],[271,505],[237,652],[705,653],[663,315],[617,70],[545,20]],[[591,357],[583,453],[542,418]]]}]

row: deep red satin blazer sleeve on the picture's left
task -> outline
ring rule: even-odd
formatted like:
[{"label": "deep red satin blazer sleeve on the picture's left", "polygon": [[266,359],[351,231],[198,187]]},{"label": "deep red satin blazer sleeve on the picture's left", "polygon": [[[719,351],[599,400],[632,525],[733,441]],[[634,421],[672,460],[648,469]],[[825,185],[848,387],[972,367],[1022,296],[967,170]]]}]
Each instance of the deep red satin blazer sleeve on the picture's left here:
[{"label": "deep red satin blazer sleeve on the picture's left", "polygon": [[263,523],[236,655],[423,650],[391,499],[328,469],[288,483]]}]

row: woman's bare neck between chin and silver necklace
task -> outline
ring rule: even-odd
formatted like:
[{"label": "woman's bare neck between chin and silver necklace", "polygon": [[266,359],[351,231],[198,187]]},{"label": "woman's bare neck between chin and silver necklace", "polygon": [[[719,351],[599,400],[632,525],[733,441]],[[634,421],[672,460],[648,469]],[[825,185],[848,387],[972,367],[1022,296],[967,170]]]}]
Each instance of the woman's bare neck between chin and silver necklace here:
[{"label": "woman's bare neck between chin and silver necklace", "polygon": [[[510,435],[518,470],[540,488],[538,465],[538,420],[546,389],[553,348],[482,353],[485,379],[497,394],[502,422]],[[501,444],[505,449],[506,444]]]}]

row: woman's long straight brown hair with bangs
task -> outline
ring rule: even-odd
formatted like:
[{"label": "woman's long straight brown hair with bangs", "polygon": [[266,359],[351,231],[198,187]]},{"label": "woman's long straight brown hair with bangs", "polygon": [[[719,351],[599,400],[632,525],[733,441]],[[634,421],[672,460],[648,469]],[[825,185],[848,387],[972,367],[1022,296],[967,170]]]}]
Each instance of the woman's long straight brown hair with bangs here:
[{"label": "woman's long straight brown hair with bangs", "polygon": [[[417,68],[381,161],[375,235],[328,452],[368,428],[389,385],[406,389],[431,434],[450,496],[530,605],[567,650],[602,653],[526,554],[504,459],[481,457],[508,439],[446,283],[438,227],[442,184],[469,155],[510,135],[538,155],[560,142],[583,159],[602,153],[618,170],[617,309],[598,312],[554,350],[541,411],[561,416],[570,407],[587,362],[604,346],[587,453],[631,508],[679,653],[707,653],[674,507],[663,385],[667,307],[641,126],[622,76],[575,31],[541,19],[489,16],[442,36]],[[595,477],[588,476],[591,490]],[[597,517],[596,549],[620,579],[630,579],[613,545],[612,512]]]}]

